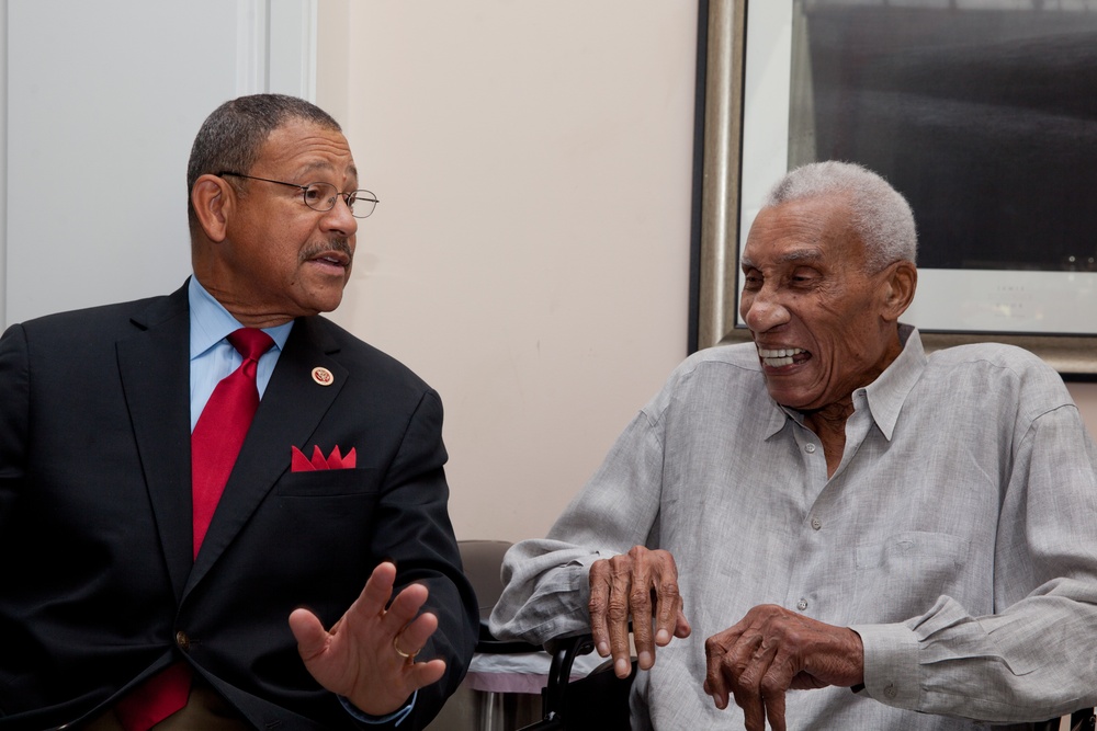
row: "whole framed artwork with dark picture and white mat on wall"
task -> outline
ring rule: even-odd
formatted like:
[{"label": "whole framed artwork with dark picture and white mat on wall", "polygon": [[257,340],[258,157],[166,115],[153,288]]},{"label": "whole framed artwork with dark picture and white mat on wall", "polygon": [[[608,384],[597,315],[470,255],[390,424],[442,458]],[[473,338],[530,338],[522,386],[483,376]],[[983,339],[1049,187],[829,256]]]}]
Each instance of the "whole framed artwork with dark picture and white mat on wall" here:
[{"label": "whole framed artwork with dark picture and white mat on wall", "polygon": [[749,338],[738,251],[769,187],[859,162],[914,209],[927,349],[1097,377],[1097,0],[702,2],[697,346]]}]

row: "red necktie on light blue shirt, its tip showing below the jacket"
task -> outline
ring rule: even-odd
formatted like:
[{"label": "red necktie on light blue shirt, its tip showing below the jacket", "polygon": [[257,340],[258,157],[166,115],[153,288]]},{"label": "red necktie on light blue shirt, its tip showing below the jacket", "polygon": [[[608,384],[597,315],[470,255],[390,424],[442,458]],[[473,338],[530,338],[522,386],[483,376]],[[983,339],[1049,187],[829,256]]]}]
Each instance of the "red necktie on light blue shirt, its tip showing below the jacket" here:
[{"label": "red necktie on light blue shirt, its tip showing below the jacket", "polygon": [[[274,345],[270,335],[255,328],[240,328],[228,342],[244,363],[217,384],[191,433],[194,558],[259,408],[259,356]],[[126,731],[147,731],[185,706],[190,690],[191,669],[179,662],[118,701],[114,712]]]}]

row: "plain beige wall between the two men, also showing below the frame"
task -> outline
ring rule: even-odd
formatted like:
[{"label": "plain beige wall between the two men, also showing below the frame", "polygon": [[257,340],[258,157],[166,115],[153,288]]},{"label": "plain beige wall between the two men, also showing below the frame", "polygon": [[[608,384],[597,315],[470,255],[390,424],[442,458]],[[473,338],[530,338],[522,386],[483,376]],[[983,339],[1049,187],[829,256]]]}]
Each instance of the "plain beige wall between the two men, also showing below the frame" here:
[{"label": "plain beige wall between the two men, also showing below the frame", "polygon": [[695,24],[320,3],[318,101],[381,198],[336,319],[441,392],[459,538],[543,535],[686,354]]}]

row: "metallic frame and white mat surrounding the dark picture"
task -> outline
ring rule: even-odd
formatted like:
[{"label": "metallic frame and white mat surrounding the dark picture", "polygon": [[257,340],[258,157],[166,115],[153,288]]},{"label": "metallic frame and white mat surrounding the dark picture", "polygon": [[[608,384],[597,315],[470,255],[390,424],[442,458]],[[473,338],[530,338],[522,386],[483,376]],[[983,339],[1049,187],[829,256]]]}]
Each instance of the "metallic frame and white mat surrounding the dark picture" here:
[{"label": "metallic frame and white mat surrounding the dark picture", "polygon": [[[792,0],[755,4],[780,14]],[[789,169],[793,32],[787,18],[774,22],[750,10],[748,0],[699,5],[690,351],[749,340],[738,318],[738,250],[758,201]],[[748,45],[765,54],[751,61]],[[1066,379],[1097,380],[1097,267],[1009,266],[919,267],[918,296],[904,321],[919,327],[927,351],[1005,342],[1036,353]]]}]

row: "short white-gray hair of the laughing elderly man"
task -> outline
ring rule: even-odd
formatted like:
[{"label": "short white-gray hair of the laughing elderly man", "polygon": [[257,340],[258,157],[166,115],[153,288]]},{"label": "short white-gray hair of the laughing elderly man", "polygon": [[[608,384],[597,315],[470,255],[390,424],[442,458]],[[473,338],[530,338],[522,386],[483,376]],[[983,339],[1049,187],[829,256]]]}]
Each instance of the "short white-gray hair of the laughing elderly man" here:
[{"label": "short white-gray hair of the laughing elderly man", "polygon": [[846,199],[850,228],[864,244],[871,272],[893,262],[916,260],[918,233],[911,205],[887,181],[859,164],[830,160],[796,168],[773,186],[762,205],[827,196]]}]

